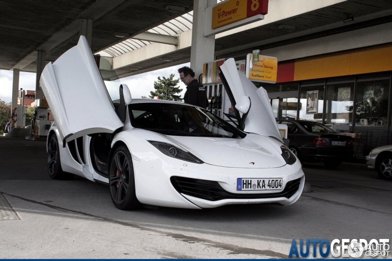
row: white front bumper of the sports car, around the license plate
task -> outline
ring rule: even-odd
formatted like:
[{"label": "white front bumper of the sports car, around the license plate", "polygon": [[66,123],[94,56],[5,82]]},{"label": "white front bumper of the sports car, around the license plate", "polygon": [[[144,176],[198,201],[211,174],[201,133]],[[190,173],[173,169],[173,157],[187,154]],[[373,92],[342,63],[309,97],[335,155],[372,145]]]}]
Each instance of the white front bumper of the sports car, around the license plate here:
[{"label": "white front bumper of the sports car, around the license plate", "polygon": [[[136,197],[141,203],[180,208],[214,208],[229,204],[278,203],[289,205],[301,196],[305,176],[298,162],[279,168],[245,169],[219,167],[209,164],[185,163],[176,159],[162,161],[149,157],[134,162]],[[171,161],[171,162],[169,162]],[[176,161],[176,162],[175,162]],[[178,164],[180,163],[180,164]],[[282,190],[237,191],[237,178],[282,178],[283,188],[296,180],[296,187],[289,193]],[[210,192],[187,193],[178,189],[172,179],[201,180],[216,183],[221,197],[212,200]],[[208,185],[208,184],[207,184]],[[282,193],[283,192],[283,193]],[[223,194],[223,196],[222,196]],[[214,195],[213,195],[214,196]]]}]

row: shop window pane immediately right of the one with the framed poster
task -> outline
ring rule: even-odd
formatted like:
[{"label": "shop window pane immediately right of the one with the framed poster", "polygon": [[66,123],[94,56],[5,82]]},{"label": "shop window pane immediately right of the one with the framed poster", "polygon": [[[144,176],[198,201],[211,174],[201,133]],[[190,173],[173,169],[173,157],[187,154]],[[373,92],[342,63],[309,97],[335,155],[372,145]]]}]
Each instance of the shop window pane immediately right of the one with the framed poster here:
[{"label": "shop window pane immediately right of the one with the framed poster", "polygon": [[325,124],[352,123],[354,82],[327,85]]}]

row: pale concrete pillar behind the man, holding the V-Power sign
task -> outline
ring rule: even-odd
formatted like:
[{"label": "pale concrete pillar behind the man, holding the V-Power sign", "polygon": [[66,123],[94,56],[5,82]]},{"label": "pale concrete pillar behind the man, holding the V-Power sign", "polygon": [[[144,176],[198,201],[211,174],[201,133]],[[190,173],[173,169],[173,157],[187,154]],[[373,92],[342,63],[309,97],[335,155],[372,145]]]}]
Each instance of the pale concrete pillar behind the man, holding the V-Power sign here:
[{"label": "pale concrete pillar behind the man, holding the V-Power sign", "polygon": [[191,45],[191,68],[195,78],[203,73],[203,63],[214,60],[215,35],[204,37],[205,9],[216,4],[216,0],[194,0]]}]

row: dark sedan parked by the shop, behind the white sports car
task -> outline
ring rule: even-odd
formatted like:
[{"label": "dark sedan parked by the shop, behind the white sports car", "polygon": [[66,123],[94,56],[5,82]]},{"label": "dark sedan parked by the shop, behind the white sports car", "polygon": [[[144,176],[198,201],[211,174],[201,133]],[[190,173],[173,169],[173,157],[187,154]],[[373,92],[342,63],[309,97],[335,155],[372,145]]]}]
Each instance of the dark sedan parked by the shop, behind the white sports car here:
[{"label": "dark sedan parked by the shop, behind the white sports car", "polygon": [[304,120],[278,120],[288,127],[290,150],[301,162],[323,162],[337,168],[354,155],[353,139],[341,135],[320,123]]}]

